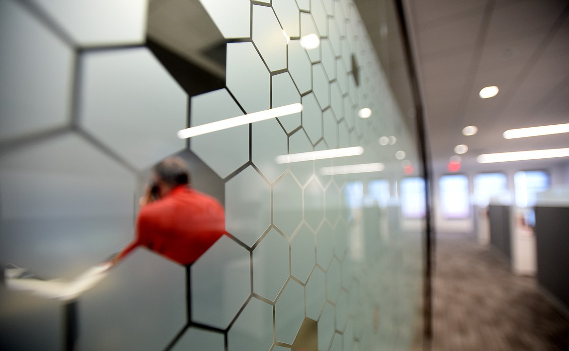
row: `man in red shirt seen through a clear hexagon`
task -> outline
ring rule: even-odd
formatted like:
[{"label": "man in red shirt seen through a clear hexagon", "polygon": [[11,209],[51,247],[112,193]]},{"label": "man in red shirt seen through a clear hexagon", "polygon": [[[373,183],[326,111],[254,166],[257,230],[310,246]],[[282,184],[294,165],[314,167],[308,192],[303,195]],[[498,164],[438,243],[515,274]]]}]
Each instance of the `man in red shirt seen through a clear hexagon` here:
[{"label": "man in red shirt seen through a clear hexagon", "polygon": [[182,265],[192,264],[226,233],[223,207],[188,185],[180,158],[167,158],[152,171],[154,185],[141,198],[136,237],[113,262],[142,245]]}]

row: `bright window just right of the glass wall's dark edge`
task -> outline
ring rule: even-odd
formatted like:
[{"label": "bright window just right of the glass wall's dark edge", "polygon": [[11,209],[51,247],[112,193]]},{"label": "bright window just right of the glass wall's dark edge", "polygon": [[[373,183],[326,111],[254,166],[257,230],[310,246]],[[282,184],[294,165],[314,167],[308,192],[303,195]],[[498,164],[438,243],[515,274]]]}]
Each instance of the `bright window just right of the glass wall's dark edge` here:
[{"label": "bright window just right of the glass wall's dark edge", "polygon": [[440,177],[439,195],[444,218],[462,219],[470,216],[467,176],[453,174]]}]

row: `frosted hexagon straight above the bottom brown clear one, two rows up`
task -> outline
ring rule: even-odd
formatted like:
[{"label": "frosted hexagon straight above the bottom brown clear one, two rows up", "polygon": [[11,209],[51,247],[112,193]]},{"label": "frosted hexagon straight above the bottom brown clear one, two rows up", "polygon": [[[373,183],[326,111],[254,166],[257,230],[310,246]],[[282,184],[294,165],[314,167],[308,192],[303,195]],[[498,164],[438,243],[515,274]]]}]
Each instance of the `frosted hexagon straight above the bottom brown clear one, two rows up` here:
[{"label": "frosted hexagon straight above the bottom brown clear one, two rows up", "polygon": [[299,281],[306,283],[316,263],[314,234],[303,225],[290,243],[291,274]]}]

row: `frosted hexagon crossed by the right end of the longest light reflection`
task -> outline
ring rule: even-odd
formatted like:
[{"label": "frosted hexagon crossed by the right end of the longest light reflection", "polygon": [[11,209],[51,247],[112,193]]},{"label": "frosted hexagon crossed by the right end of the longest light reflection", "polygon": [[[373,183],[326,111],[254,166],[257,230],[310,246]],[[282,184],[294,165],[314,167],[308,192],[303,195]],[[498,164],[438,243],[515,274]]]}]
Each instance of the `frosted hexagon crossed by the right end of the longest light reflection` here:
[{"label": "frosted hexagon crossed by the right end of the longest light reflection", "polygon": [[[287,72],[275,74],[272,78],[273,87],[273,108],[300,103],[300,94]],[[287,133],[292,132],[300,126],[300,112],[278,118]]]}]

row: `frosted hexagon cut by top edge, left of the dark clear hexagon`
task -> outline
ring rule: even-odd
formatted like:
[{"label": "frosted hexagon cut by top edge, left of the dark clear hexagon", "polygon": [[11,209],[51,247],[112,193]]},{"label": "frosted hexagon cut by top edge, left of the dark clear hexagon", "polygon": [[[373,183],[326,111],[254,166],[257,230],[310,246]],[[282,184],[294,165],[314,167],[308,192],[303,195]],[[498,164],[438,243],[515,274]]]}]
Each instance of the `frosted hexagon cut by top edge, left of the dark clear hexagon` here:
[{"label": "frosted hexagon cut by top edge, left of the dark clear hexagon", "polygon": [[81,47],[143,44],[148,3],[32,0]]}]

